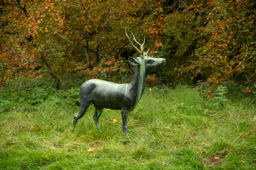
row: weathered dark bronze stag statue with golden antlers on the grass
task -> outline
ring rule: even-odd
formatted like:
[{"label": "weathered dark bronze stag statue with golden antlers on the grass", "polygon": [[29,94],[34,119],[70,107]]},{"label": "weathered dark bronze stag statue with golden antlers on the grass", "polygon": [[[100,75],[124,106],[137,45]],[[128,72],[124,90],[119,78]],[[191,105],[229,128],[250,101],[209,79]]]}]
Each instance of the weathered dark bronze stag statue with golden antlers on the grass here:
[{"label": "weathered dark bronze stag statue with golden antlers on the grass", "polygon": [[[74,127],[78,119],[82,118],[87,108],[92,103],[95,106],[95,120],[97,129],[100,131],[99,118],[103,108],[121,110],[122,113],[122,131],[127,135],[127,116],[129,111],[133,111],[137,106],[144,92],[146,77],[154,72],[157,68],[164,66],[166,60],[164,58],[153,58],[148,56],[149,50],[144,51],[144,42],[137,42],[134,34],[127,35],[129,42],[139,52],[140,57],[129,57],[130,64],[135,66],[135,73],[132,81],[129,84],[115,84],[110,81],[100,79],[90,79],[82,84],[80,89],[80,109],[74,116]],[[140,50],[136,47],[132,40],[140,46]]]}]

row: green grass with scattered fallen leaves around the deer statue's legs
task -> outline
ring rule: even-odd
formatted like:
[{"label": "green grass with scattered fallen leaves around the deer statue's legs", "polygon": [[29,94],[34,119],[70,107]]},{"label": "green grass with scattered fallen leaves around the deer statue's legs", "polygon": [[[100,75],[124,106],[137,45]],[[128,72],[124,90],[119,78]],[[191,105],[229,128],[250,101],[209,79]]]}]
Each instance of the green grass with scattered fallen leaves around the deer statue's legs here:
[{"label": "green grass with scattered fallen leaves around the deer statue's legs", "polygon": [[146,89],[129,113],[125,137],[120,111],[103,111],[99,134],[90,106],[74,129],[78,106],[68,92],[46,91],[36,103],[26,99],[30,95],[3,94],[0,169],[256,168],[256,106],[250,98],[206,101],[187,86]]}]

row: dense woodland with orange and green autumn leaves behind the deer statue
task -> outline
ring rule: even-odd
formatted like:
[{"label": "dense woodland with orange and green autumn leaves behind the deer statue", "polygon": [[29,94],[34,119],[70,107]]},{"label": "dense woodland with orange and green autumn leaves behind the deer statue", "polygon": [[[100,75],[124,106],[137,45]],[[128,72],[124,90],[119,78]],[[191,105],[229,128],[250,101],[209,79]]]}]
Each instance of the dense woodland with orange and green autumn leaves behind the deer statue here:
[{"label": "dense woodland with orange and green autumn leaves behind the deer statue", "polygon": [[62,89],[75,78],[131,77],[127,58],[138,54],[126,28],[146,38],[151,57],[166,58],[149,81],[255,94],[255,14],[254,0],[2,0],[0,84],[50,75]]}]

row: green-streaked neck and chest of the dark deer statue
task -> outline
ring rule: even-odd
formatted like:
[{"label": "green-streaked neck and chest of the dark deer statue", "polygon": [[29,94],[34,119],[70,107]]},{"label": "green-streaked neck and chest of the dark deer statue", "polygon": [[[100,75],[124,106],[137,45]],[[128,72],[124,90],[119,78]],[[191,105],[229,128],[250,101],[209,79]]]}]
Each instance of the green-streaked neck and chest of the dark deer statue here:
[{"label": "green-streaked neck and chest of the dark deer statue", "polygon": [[142,94],[145,89],[146,84],[146,65],[145,62],[142,62],[140,67],[135,68],[134,77],[132,81],[128,85],[129,94],[134,98],[134,105],[132,106],[131,111],[137,106],[140,98],[142,98]]}]

